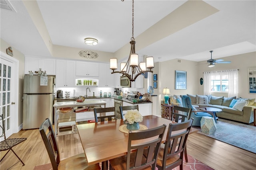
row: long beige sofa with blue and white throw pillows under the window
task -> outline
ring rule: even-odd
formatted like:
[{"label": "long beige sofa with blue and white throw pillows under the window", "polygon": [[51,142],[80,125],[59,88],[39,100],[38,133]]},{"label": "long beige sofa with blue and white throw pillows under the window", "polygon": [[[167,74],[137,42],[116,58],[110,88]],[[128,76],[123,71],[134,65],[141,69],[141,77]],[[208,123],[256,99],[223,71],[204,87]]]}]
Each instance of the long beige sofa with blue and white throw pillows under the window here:
[{"label": "long beige sofa with blue and white throw pillows under the window", "polygon": [[[226,98],[224,96],[218,97],[198,94],[187,94],[187,96],[190,97],[191,104],[194,107],[216,107],[222,109],[222,111],[216,113],[217,117],[248,124],[254,121],[253,110],[256,108],[255,99],[236,97]],[[170,102],[180,103],[180,106],[182,106],[181,97],[182,95],[171,96]]]}]

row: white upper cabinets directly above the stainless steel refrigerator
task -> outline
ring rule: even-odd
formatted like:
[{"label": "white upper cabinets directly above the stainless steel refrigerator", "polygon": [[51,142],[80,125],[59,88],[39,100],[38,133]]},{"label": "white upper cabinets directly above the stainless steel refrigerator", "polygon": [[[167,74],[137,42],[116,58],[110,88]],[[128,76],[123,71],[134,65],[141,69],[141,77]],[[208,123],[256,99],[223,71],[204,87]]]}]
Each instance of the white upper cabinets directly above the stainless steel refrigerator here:
[{"label": "white upper cabinets directly above the stainless steel refrigerator", "polygon": [[46,71],[47,75],[56,75],[56,59],[39,58],[39,57],[25,57],[25,70],[24,74],[29,74],[28,71]]}]

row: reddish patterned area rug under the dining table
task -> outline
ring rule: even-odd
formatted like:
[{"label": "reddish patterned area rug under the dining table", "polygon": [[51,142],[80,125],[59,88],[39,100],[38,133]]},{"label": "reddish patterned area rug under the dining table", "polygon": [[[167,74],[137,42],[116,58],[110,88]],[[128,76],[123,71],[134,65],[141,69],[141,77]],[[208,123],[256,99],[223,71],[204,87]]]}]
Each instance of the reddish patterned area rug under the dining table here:
[{"label": "reddish patterned area rug under the dining table", "polygon": [[[44,164],[44,165],[36,166],[34,170],[52,170],[52,164]],[[180,170],[180,167],[177,166],[176,168],[174,168],[174,170]],[[206,164],[199,162],[195,158],[192,158],[190,155],[188,155],[188,163],[186,163],[185,160],[183,161],[183,170],[213,170],[213,169],[207,166]]]}]

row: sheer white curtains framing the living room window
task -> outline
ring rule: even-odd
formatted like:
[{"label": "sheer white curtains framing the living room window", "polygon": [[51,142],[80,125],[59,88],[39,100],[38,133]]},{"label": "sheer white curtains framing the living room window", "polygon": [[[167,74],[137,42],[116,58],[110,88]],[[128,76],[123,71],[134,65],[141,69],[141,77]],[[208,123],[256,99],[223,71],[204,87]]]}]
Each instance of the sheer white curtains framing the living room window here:
[{"label": "sheer white curtains framing the living room window", "polygon": [[238,97],[238,69],[204,72],[204,95],[211,94],[211,80],[216,76],[228,78],[228,97]]}]

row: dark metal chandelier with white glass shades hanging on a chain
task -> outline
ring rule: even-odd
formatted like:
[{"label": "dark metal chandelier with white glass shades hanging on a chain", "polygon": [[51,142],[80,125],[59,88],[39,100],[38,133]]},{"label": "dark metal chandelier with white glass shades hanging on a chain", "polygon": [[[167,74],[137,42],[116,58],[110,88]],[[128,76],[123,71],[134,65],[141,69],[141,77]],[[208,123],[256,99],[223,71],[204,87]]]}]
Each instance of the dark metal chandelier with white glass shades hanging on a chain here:
[{"label": "dark metal chandelier with white glass shades hanging on a chain", "polygon": [[[124,0],[122,0],[124,1]],[[115,71],[117,69],[117,59],[111,58],[110,59],[110,69],[113,73],[120,73],[122,76],[126,76],[130,81],[135,81],[135,79],[139,75],[144,75],[145,72],[153,72],[151,69],[154,68],[154,58],[153,57],[146,57],[146,63],[142,62],[138,64],[138,54],[135,52],[135,39],[133,37],[133,21],[134,21],[134,0],[132,0],[132,38],[130,41],[131,51],[126,63],[120,64],[120,71]]]}]

